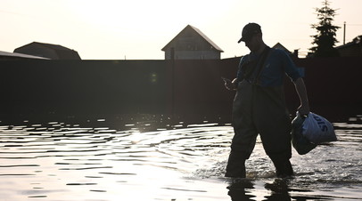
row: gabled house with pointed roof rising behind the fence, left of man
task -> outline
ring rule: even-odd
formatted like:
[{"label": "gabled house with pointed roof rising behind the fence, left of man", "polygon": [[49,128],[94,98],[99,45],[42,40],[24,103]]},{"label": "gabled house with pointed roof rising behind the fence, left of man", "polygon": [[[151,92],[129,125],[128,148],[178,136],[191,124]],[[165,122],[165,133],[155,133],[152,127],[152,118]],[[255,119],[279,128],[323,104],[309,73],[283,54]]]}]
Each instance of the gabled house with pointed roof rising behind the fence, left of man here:
[{"label": "gabled house with pointed roof rising behind the fence, left of man", "polygon": [[165,60],[219,60],[221,48],[208,36],[187,25],[169,44],[162,48]]}]

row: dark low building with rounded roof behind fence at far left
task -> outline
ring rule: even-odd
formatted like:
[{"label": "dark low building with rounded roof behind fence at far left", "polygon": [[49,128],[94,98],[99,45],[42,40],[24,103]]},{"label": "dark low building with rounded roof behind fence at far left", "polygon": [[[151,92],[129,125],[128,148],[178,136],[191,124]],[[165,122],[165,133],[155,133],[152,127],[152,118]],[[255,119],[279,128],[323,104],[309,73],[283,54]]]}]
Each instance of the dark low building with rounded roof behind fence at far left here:
[{"label": "dark low building with rounded roof behind fence at far left", "polygon": [[59,44],[43,44],[33,42],[16,48],[14,52],[45,57],[51,60],[81,60],[78,52]]}]

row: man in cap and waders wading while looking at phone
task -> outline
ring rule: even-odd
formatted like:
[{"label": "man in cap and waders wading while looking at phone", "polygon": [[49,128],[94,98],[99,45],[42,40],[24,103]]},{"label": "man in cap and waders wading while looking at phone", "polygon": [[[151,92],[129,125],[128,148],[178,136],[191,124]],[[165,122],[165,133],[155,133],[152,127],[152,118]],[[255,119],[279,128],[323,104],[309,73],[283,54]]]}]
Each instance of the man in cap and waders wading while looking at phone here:
[{"label": "man in cap and waders wading while looking at phone", "polygon": [[309,101],[303,79],[286,52],[264,44],[258,24],[247,24],[238,43],[241,41],[251,52],[243,56],[233,82],[224,78],[226,88],[236,91],[234,138],[225,176],[246,177],[245,160],[251,156],[258,134],[276,166],[276,176],[292,176],[291,119],[284,101],[284,75],[292,79],[299,94],[300,115],[307,115]]}]

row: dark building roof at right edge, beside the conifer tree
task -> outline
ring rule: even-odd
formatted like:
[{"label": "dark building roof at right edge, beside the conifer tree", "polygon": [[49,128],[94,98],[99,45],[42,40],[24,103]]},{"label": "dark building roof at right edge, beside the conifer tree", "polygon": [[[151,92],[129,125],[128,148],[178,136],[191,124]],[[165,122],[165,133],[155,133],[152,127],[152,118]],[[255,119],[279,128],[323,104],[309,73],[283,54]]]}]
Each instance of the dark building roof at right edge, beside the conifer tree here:
[{"label": "dark building roof at right edge, beside the conifer tree", "polygon": [[362,35],[355,37],[352,42],[335,47],[341,57],[362,57]]}]

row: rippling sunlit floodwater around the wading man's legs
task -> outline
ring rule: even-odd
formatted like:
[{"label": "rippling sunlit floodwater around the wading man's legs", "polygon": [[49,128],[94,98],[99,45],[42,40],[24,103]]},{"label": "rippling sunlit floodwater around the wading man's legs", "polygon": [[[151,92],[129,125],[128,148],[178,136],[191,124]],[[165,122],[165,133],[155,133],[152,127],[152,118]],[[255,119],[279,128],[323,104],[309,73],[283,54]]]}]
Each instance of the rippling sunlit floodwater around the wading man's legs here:
[{"label": "rippling sunlit floodwater around the wading man's legs", "polygon": [[293,150],[293,179],[276,179],[258,142],[243,181],[223,177],[230,125],[131,120],[1,126],[1,200],[361,200],[362,116],[333,123],[339,141]]}]

